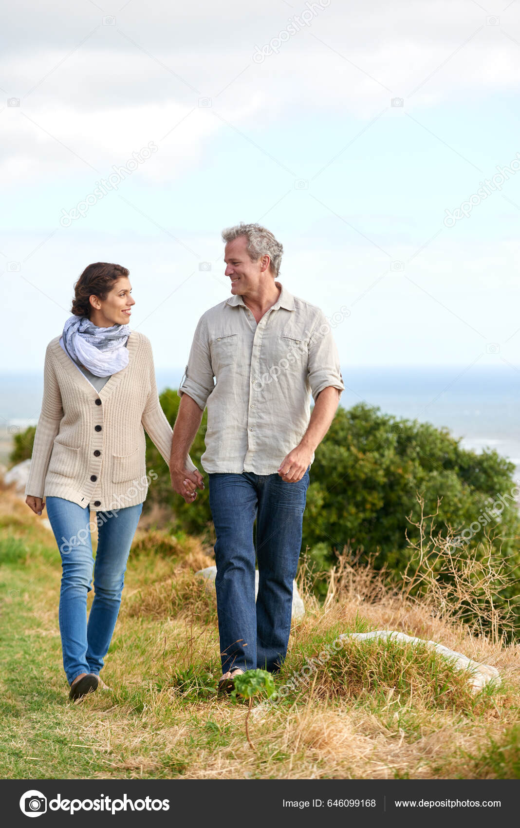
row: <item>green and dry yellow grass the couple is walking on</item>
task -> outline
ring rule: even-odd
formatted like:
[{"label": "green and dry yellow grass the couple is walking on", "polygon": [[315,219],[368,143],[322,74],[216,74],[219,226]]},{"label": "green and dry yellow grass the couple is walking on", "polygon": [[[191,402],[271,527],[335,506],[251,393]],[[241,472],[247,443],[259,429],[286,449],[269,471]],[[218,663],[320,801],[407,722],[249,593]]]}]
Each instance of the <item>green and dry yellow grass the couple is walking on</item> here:
[{"label": "green and dry yellow grass the couple is walking on", "polygon": [[[350,562],[349,562],[350,561]],[[10,492],[0,504],[0,777],[518,778],[520,648],[474,634],[434,604],[403,599],[369,566],[340,556],[325,604],[306,594],[276,685],[277,705],[214,692],[212,563],[197,538],[137,532],[103,691],[72,704],[61,666],[60,558],[51,532]],[[305,566],[301,571],[306,589]],[[435,652],[340,633],[392,628],[498,667],[479,694]],[[330,657],[304,684],[312,657]],[[254,708],[253,708],[254,712]]]}]

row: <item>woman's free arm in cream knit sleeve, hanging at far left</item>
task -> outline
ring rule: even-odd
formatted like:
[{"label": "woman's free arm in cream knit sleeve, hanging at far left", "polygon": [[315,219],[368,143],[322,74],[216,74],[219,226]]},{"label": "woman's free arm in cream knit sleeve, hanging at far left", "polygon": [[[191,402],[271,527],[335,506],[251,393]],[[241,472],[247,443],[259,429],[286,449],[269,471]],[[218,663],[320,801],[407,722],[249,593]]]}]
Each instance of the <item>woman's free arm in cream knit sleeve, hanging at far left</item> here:
[{"label": "woman's free arm in cream knit sleeve, hanging at far left", "polygon": [[51,364],[49,348],[46,350],[45,367],[43,369],[43,399],[41,414],[36,426],[34,445],[32,447],[31,469],[26,484],[26,503],[33,510],[41,514],[45,505],[43,489],[51,460],[52,446],[55,436],[60,431],[60,421],[63,417],[61,393],[55,370]]}]

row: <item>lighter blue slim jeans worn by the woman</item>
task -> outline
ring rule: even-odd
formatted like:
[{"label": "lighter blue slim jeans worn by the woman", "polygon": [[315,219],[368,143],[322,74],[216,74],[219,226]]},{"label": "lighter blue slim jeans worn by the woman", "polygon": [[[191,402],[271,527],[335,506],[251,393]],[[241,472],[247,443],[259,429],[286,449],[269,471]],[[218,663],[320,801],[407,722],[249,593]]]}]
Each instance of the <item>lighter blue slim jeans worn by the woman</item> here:
[{"label": "lighter blue slim jeans worn by the woman", "polygon": [[[128,553],[142,513],[137,506],[96,512],[98,550],[95,566],[90,540],[89,508],[65,498],[46,498],[47,515],[63,567],[60,589],[60,633],[63,667],[69,684],[81,673],[95,673],[104,665],[104,656],[118,620]],[[87,624],[87,593],[94,601]]]}]

